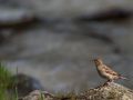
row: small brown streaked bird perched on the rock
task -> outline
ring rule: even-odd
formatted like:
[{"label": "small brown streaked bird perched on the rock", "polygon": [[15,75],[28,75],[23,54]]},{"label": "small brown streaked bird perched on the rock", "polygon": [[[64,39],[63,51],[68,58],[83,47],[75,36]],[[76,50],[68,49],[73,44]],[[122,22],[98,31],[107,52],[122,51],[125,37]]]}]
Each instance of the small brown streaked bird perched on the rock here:
[{"label": "small brown streaked bird perched on the rock", "polygon": [[93,59],[93,61],[95,63],[99,74],[102,78],[108,79],[108,83],[114,82],[117,79],[126,79],[125,77],[112,70],[109,66],[104,64],[101,58]]}]

